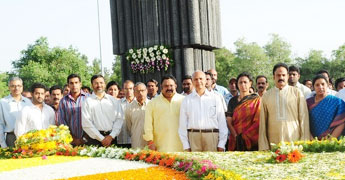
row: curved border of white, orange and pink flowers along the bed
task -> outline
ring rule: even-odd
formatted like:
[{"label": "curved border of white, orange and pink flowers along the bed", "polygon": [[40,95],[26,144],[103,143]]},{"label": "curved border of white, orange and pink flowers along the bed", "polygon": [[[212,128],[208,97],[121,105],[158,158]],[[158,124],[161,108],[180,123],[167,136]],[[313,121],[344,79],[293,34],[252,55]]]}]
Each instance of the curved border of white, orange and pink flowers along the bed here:
[{"label": "curved border of white, orange and pink flowers along the bed", "polygon": [[[86,147],[80,151],[79,155],[143,161],[185,172],[187,177],[191,180],[241,179],[239,175],[229,178],[229,175],[234,173],[228,170],[220,171],[218,167],[209,160],[190,159],[175,154],[161,153],[151,150],[122,149],[116,147]],[[208,176],[210,173],[213,173],[212,176]]]}]

